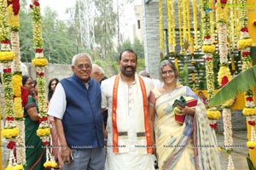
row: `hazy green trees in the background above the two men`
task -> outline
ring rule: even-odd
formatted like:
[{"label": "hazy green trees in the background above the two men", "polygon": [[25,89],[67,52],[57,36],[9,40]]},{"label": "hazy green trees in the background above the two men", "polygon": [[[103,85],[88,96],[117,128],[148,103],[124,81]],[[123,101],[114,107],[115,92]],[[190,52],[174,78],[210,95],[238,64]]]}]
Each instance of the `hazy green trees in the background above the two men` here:
[{"label": "hazy green trees in the background above the two men", "polygon": [[[67,8],[70,20],[59,20],[56,11],[51,8],[44,8],[44,11],[41,11],[44,57],[49,60],[49,63],[68,65],[74,54],[85,52],[90,54],[93,60],[104,60],[111,65],[113,60],[118,60],[119,52],[125,48],[132,48],[139,59],[144,58],[143,43],[138,39],[133,44],[129,39],[125,40],[117,49],[118,14],[113,9],[113,2],[96,0],[95,4],[96,48],[94,49],[82,47],[79,11],[84,8],[79,6],[78,0],[75,1],[74,7]],[[32,15],[26,0],[20,1],[20,56],[22,62],[31,62],[35,57],[32,42]]]}]

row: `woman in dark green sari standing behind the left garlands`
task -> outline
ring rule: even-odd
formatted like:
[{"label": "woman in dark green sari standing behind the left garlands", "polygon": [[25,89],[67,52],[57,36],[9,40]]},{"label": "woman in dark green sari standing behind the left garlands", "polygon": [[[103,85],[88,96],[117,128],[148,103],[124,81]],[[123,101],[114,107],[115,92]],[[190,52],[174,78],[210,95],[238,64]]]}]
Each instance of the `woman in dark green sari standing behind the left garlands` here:
[{"label": "woman in dark green sari standing behind the left garlands", "polygon": [[39,126],[38,101],[34,99],[34,82],[31,77],[22,77],[22,105],[25,117],[26,170],[44,170],[45,148],[37,135]]}]

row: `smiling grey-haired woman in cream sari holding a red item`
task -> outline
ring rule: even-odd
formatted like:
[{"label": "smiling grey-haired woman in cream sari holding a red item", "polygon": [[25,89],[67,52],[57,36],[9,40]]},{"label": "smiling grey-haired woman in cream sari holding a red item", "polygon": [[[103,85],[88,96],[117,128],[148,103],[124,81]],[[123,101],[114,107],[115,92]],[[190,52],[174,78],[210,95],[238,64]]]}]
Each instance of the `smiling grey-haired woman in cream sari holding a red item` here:
[{"label": "smiling grey-haired woman in cream sari holding a red item", "polygon": [[[151,91],[148,114],[160,170],[221,169],[205,105],[189,87],[177,85],[177,69],[172,62],[161,61],[159,74],[164,83]],[[173,109],[174,101],[181,96],[195,101],[195,105]],[[175,113],[183,115],[184,122],[177,121]]]}]

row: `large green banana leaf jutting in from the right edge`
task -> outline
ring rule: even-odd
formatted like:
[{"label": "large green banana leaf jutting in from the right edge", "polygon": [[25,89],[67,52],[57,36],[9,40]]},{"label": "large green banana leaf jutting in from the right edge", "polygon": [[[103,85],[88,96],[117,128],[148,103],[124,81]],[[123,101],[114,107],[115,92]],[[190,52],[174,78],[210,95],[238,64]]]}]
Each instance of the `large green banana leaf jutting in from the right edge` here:
[{"label": "large green banana leaf jutting in from the right edge", "polygon": [[209,99],[208,104],[211,107],[222,105],[225,101],[234,99],[237,94],[241,94],[253,86],[256,86],[256,65],[246,71],[241,71],[236,77],[232,78],[223,88],[220,88],[217,94]]}]

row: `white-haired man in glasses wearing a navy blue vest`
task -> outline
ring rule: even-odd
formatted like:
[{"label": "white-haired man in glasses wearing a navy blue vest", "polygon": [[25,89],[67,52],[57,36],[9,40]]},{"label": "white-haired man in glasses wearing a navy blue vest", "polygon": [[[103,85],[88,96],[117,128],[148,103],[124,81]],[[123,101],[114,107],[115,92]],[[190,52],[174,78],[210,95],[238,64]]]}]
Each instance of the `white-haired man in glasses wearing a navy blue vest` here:
[{"label": "white-haired man in glasses wearing a navy blue vest", "polygon": [[104,135],[100,83],[90,78],[88,54],[73,57],[72,77],[61,80],[49,102],[61,142],[64,170],[104,169]]}]

